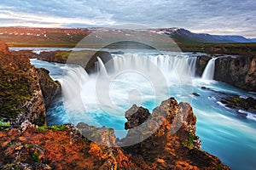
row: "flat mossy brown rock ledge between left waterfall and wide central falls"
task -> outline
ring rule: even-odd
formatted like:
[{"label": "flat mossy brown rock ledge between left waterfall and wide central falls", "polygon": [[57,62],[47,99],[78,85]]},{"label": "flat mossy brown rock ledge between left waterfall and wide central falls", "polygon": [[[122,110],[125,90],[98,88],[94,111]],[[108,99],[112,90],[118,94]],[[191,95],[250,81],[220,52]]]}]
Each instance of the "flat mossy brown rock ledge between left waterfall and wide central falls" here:
[{"label": "flat mossy brown rock ledge between left waterfall and wide central falls", "polygon": [[87,72],[95,71],[95,63],[97,57],[100,57],[103,63],[107,63],[112,59],[111,54],[106,51],[50,51],[41,52],[38,59],[49,62],[62,63],[62,64],[76,64],[81,65]]}]

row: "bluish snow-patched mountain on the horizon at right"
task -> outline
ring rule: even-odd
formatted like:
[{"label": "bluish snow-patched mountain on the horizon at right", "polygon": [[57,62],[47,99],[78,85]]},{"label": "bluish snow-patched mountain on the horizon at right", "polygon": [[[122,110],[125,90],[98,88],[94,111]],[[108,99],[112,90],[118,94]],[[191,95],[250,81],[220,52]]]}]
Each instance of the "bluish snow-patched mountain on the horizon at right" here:
[{"label": "bluish snow-patched mountain on the horizon at right", "polygon": [[242,36],[219,36],[219,35],[210,35],[203,33],[193,33],[191,31],[185,30],[183,28],[166,28],[166,29],[156,29],[151,30],[159,34],[165,34],[169,37],[172,37],[177,42],[256,42],[255,39],[247,39]]}]

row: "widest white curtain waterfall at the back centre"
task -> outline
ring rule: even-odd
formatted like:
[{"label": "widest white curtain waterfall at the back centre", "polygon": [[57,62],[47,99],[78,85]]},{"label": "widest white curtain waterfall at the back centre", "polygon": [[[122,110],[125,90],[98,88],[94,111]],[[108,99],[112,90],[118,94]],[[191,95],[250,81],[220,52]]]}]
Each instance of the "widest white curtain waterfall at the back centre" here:
[{"label": "widest white curtain waterfall at the back centre", "polygon": [[[154,72],[158,68],[166,77],[186,78],[195,76],[196,57],[187,55],[143,55],[143,54],[113,54],[113,65],[107,65],[107,70],[116,72],[125,69],[138,69]],[[150,67],[150,65],[154,65]]]}]

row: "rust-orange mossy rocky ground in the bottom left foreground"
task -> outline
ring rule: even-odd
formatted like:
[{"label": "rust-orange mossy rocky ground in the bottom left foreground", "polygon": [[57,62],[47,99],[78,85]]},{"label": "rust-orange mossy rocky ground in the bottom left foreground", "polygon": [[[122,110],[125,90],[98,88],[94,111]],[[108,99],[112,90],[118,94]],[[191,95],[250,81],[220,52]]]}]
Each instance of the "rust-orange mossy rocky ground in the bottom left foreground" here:
[{"label": "rust-orange mossy rocky ground in the bottom left foreground", "polygon": [[[102,134],[114,139],[113,133]],[[120,148],[84,139],[73,125],[31,125],[24,132],[0,131],[0,137],[1,169],[138,169]]]}]

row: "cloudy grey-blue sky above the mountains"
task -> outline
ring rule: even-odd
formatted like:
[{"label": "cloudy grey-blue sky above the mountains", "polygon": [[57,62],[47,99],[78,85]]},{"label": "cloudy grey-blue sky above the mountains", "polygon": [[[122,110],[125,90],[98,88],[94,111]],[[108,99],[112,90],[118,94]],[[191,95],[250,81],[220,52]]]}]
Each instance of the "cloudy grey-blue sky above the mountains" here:
[{"label": "cloudy grey-blue sky above the mountains", "polygon": [[256,38],[255,0],[1,0],[0,26],[180,27]]}]

